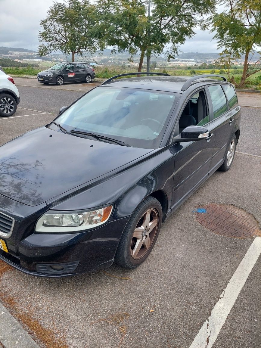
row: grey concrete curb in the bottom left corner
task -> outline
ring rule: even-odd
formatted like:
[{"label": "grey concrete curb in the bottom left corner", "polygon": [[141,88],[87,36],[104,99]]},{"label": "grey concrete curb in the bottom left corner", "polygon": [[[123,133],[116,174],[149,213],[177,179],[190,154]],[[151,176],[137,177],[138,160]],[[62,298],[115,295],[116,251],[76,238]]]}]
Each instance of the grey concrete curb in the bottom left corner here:
[{"label": "grey concrete curb in the bottom left corner", "polygon": [[0,303],[0,345],[1,343],[5,348],[40,348]]}]

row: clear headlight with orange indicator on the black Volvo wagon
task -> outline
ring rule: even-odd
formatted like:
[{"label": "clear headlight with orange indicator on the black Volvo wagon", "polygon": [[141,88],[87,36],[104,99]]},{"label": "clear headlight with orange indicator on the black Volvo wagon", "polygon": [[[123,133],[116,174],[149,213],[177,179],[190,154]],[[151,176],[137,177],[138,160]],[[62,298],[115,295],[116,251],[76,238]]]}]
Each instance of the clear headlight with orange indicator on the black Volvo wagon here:
[{"label": "clear headlight with orange indicator on the black Volvo wagon", "polygon": [[74,232],[100,226],[108,221],[112,212],[112,205],[88,212],[47,213],[36,223],[36,232]]}]

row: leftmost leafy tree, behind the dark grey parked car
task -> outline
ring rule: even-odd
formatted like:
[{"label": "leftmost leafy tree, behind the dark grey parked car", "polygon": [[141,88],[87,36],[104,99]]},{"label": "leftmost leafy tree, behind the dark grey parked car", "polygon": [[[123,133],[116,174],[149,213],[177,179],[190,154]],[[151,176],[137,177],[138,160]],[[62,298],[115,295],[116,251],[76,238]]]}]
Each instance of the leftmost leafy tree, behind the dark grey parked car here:
[{"label": "leftmost leafy tree, behind the dark grey parked car", "polygon": [[39,55],[61,51],[71,53],[74,62],[75,54],[93,54],[98,48],[104,48],[102,40],[93,35],[96,23],[95,6],[90,5],[88,0],[54,2],[47,11],[46,19],[40,21]]}]

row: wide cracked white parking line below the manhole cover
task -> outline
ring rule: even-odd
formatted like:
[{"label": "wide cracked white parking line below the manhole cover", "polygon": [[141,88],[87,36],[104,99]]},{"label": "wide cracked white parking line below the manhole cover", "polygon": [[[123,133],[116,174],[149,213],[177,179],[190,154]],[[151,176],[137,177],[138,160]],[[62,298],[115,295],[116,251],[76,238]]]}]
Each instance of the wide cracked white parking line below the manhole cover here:
[{"label": "wide cracked white parking line below the manhole cover", "polygon": [[244,286],[248,275],[261,254],[261,237],[255,237],[243,260],[240,262],[226,289],[201,326],[190,348],[211,348],[229,315],[230,310]]}]

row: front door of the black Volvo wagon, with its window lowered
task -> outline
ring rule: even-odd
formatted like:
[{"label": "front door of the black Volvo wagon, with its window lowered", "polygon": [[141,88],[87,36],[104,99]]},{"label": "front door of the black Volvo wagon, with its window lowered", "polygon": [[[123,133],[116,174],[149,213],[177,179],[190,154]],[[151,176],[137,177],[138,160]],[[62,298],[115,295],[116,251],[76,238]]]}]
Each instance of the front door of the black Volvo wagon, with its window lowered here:
[{"label": "front door of the black Volvo wagon, with its window lowered", "polygon": [[171,146],[170,149],[174,155],[172,209],[179,206],[183,198],[189,196],[191,191],[208,176],[215,134],[214,125],[209,118],[204,89],[192,95],[186,104],[179,118],[180,134],[176,137],[180,137],[182,130],[191,125],[207,128],[209,137],[200,141],[176,143]]}]

